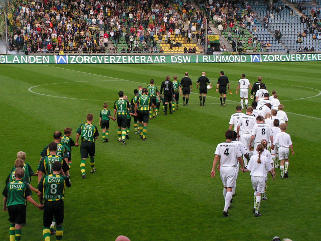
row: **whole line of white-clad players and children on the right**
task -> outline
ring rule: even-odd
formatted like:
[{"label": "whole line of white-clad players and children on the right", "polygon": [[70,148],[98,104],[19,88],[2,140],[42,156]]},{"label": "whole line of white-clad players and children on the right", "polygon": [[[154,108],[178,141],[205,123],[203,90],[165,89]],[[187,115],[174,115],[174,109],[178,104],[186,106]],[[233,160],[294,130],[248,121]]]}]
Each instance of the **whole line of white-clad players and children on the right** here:
[{"label": "whole line of white-clad players and children on the right", "polygon": [[[224,216],[229,216],[228,208],[233,201],[232,197],[235,194],[239,170],[242,172],[251,171],[254,189],[252,210],[254,216],[257,217],[261,215],[259,213],[261,200],[267,199],[267,173],[269,172],[274,180],[274,168],[280,167],[281,178],[288,177],[289,149],[294,155],[290,135],[286,133],[288,118],[283,111],[283,105],[277,99],[275,90],[272,91],[273,97],[270,99],[265,84],[261,82],[260,77],[258,80],[254,86],[259,86],[259,89],[252,91],[252,96],[256,96],[256,101],[252,102],[252,106],[247,107],[247,89],[251,86],[248,79],[245,79],[245,74],[242,74],[242,79],[239,80],[237,87],[238,91],[243,85],[240,91],[242,105],[236,106],[236,113],[231,116],[229,130],[225,133],[226,142],[219,144],[215,151],[211,176],[215,176],[215,167],[218,163],[217,169],[220,171],[224,186]],[[243,98],[246,100],[246,113],[241,112]],[[233,126],[234,132],[232,131]],[[263,194],[262,198],[261,194]]]}]

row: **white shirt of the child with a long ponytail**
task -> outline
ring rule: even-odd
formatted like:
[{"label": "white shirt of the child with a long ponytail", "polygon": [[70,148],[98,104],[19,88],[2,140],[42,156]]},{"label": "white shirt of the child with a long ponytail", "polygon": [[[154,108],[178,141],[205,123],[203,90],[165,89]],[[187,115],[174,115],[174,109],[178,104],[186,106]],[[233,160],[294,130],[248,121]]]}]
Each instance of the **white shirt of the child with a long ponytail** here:
[{"label": "white shirt of the child with a long ponytail", "polygon": [[251,171],[250,175],[253,177],[267,177],[267,172],[272,170],[272,165],[262,154],[260,155],[261,163],[257,163],[257,159],[259,159],[259,155],[253,155],[246,169]]}]

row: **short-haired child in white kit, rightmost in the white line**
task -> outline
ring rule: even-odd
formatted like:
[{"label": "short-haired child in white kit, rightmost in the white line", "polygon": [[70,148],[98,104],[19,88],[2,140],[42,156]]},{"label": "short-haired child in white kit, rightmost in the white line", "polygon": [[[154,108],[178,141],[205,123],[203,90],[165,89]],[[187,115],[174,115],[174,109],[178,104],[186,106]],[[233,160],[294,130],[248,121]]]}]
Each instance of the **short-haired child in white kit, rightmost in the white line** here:
[{"label": "short-haired child in white kit, rightmost in the white line", "polygon": [[[285,133],[286,124],[280,125],[281,132],[276,134],[274,142],[272,141],[271,150],[277,146],[279,159],[280,159],[280,170],[281,178],[288,177],[287,169],[289,167],[289,148],[291,149],[291,154],[294,155],[292,141],[289,134]],[[285,169],[284,169],[285,167]]]}]

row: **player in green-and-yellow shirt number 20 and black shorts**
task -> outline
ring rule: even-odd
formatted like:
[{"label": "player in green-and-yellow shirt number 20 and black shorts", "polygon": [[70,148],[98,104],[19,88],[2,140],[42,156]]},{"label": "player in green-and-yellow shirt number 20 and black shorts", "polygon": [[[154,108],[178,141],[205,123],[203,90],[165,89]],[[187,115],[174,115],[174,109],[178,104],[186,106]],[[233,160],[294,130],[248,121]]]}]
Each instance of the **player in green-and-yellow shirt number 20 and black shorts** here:
[{"label": "player in green-and-yellow shirt number 20 and black shorts", "polygon": [[76,135],[76,145],[78,144],[79,137],[81,139],[80,145],[80,170],[81,170],[81,178],[86,178],[85,167],[86,167],[86,158],[88,158],[88,154],[90,156],[90,172],[94,173],[96,171],[95,168],[95,140],[98,138],[99,133],[96,126],[92,125],[94,116],[89,113],[87,114],[87,122],[81,124],[77,129]]}]

